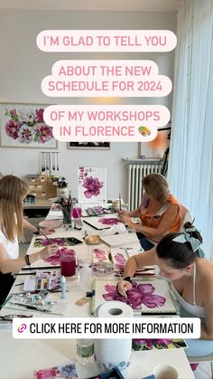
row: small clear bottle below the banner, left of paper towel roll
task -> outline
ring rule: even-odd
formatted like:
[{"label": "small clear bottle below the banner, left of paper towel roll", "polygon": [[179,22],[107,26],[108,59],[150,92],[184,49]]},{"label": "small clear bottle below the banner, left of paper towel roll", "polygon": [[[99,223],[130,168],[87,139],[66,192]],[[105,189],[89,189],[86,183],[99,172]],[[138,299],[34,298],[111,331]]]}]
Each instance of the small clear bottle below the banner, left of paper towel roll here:
[{"label": "small clear bottle below the banner, left of paper towel roll", "polygon": [[77,339],[76,355],[80,365],[94,361],[94,341],[92,339]]}]

